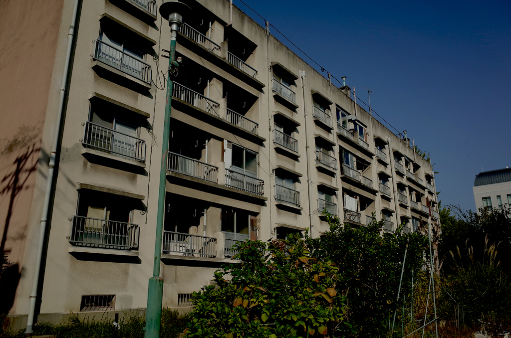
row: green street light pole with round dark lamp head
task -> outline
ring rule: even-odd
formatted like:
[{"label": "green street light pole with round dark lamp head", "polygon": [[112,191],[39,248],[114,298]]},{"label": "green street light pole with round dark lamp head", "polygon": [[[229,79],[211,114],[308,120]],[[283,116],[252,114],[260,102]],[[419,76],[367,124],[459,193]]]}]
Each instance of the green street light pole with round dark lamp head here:
[{"label": "green street light pole with round dark lamp head", "polygon": [[[160,15],[169,20],[171,30],[170,38],[170,58],[169,70],[172,67],[178,67],[174,61],[176,56],[176,38],[177,31],[183,22],[183,14],[189,13],[190,7],[178,1],[169,1],[160,6]],[[163,278],[160,277],[160,259],[161,259],[161,237],[163,233],[163,220],[165,212],[165,186],[167,182],[167,161],[169,157],[169,136],[170,136],[170,111],[172,104],[172,87],[174,82],[171,80],[171,71],[167,76],[167,97],[165,103],[165,122],[163,129],[163,138],[161,141],[161,167],[158,191],[158,215],[156,218],[156,236],[154,238],[154,262],[153,276],[149,278],[149,289],[147,292],[147,311],[146,311],[146,333],[145,338],[159,338],[161,324],[161,305],[163,298]]]}]

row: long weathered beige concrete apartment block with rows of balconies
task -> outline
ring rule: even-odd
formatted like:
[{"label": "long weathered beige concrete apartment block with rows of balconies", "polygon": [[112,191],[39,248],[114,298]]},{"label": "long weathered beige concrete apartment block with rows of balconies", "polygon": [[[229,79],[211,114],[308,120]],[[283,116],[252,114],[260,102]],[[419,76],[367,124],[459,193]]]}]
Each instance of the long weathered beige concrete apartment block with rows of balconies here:
[{"label": "long weathered beige concrete apartment block with rows of balconies", "polygon": [[[171,308],[191,306],[236,241],[321,236],[323,209],[357,226],[374,214],[385,232],[439,222],[432,167],[410,141],[228,1],[183,0],[192,14],[177,37],[168,140],[161,2],[77,1],[40,320],[146,307],[161,165],[161,276]],[[2,190],[0,226],[18,273],[9,313],[23,327],[74,1],[3,6],[0,22],[20,28],[9,38],[0,31],[9,65],[0,76],[12,79],[0,84],[8,102],[0,175],[15,181]]]}]

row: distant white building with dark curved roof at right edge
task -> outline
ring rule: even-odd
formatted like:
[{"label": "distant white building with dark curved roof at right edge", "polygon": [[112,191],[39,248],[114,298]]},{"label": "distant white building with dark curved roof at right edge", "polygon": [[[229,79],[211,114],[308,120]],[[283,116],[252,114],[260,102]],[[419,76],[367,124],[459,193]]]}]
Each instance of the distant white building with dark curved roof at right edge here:
[{"label": "distant white building with dark curved roof at right edge", "polygon": [[474,200],[476,210],[479,208],[502,209],[511,205],[511,169],[505,167],[498,170],[480,172],[474,180]]}]

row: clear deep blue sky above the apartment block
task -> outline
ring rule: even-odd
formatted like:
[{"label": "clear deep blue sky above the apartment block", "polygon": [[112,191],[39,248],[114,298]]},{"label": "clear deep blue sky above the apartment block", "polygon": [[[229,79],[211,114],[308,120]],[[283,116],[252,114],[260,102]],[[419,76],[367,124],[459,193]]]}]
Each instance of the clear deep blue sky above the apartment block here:
[{"label": "clear deep blue sky above the apartment block", "polygon": [[364,102],[364,86],[373,91],[371,107],[431,153],[444,205],[474,210],[481,167],[511,167],[511,0],[243,2],[337,79],[346,76]]}]

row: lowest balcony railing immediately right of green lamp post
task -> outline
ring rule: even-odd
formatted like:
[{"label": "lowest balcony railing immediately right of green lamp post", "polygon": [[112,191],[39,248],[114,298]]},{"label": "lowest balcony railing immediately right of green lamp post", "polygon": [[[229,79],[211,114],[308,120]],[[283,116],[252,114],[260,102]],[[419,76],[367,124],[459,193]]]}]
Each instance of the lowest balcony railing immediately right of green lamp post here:
[{"label": "lowest balcony railing immediately right of green lamp post", "polygon": [[217,239],[174,231],[163,232],[163,253],[176,252],[182,256],[216,257]]}]

